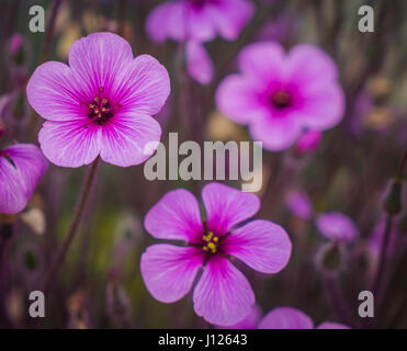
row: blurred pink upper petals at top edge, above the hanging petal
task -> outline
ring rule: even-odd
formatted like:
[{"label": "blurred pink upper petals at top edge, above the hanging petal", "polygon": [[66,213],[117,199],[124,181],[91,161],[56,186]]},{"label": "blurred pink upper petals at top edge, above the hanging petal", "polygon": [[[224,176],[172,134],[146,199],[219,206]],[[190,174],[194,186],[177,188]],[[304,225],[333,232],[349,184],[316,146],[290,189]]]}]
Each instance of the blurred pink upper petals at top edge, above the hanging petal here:
[{"label": "blurred pink upper petals at top edge, above the hanging petal", "polygon": [[249,0],[173,0],[155,8],[146,30],[155,42],[208,42],[217,35],[233,41],[250,20]]}]

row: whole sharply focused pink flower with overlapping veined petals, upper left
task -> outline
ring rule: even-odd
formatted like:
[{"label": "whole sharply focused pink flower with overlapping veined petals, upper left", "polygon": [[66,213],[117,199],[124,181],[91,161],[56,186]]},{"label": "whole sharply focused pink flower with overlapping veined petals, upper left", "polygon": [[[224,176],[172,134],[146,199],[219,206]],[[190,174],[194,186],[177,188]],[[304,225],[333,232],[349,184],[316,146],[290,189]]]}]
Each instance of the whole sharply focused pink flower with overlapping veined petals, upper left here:
[{"label": "whole sharply focused pink flower with overlapping veined petals, upper left", "polygon": [[[27,99],[45,120],[38,139],[44,155],[61,167],[102,160],[139,165],[155,150],[161,128],[157,114],[170,92],[166,68],[148,55],[133,57],[129,44],[112,33],[77,41],[69,66],[49,61],[36,68]],[[158,143],[157,143],[158,144]]]}]

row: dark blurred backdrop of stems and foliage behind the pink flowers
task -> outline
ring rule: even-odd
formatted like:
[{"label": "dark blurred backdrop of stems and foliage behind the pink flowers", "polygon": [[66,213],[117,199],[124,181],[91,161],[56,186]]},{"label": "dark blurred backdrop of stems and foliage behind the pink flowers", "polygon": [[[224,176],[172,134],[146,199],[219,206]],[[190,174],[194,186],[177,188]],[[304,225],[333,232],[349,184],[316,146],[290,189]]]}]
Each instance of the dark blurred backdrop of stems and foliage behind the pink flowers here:
[{"label": "dark blurred backdrop of stems and foliage behind the pink flowers", "polygon": [[[358,294],[370,290],[376,271],[382,242],[377,236],[388,217],[383,202],[392,179],[400,172],[407,145],[407,2],[252,1],[256,12],[238,39],[205,44],[214,65],[213,80],[206,86],[186,73],[182,43],[156,44],[148,37],[146,18],[160,2],[0,1],[0,123],[8,131],[0,147],[14,141],[37,144],[43,120],[27,103],[26,81],[44,61],[66,63],[72,43],[92,32],[117,33],[131,43],[134,55],[152,55],[168,69],[171,95],[156,116],[165,145],[169,132],[178,132],[180,143],[250,140],[247,129],[223,116],[214,102],[219,81],[237,71],[237,54],[257,41],[279,42],[287,49],[314,43],[339,67],[346,114],[309,150],[299,152],[296,146],[284,152],[263,150],[258,217],[287,230],[293,254],[275,275],[240,269],[264,314],[276,306],[292,306],[315,324],[336,320],[370,327],[358,317]],[[363,4],[374,9],[374,33],[358,31],[358,9]],[[29,30],[32,5],[45,9],[44,33]],[[67,231],[84,171],[50,166],[24,212],[0,215],[11,236],[1,257],[0,327],[212,328],[194,314],[191,298],[170,305],[155,301],[139,273],[139,257],[154,242],[143,227],[147,211],[167,191],[183,186],[199,194],[204,182],[151,182],[145,179],[143,165],[127,169],[102,165],[55,296],[47,301],[46,318],[29,316],[27,296],[38,288]],[[239,186],[236,181],[228,183]],[[314,215],[301,218],[291,204],[290,194],[297,191],[307,194],[313,214],[342,212],[359,228],[358,240],[346,246],[333,263],[318,254],[327,240],[318,233]],[[405,207],[392,215],[392,250],[382,308],[375,318],[381,328],[407,328],[405,217]],[[327,270],[335,272],[327,274]]]}]

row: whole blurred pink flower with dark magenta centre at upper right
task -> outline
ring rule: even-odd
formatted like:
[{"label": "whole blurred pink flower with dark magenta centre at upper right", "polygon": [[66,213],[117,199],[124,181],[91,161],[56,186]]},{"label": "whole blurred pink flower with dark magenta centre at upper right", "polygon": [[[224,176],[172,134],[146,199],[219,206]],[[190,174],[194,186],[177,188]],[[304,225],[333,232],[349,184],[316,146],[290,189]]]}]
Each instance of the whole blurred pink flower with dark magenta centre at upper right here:
[{"label": "whole blurred pink flower with dark magenta centre at upper right", "polygon": [[219,84],[216,104],[230,120],[248,125],[265,149],[284,150],[304,131],[328,129],[342,118],[337,66],[318,47],[302,44],[285,54],[278,43],[256,43],[241,50],[238,65],[240,73]]}]

